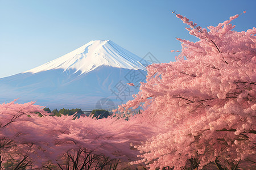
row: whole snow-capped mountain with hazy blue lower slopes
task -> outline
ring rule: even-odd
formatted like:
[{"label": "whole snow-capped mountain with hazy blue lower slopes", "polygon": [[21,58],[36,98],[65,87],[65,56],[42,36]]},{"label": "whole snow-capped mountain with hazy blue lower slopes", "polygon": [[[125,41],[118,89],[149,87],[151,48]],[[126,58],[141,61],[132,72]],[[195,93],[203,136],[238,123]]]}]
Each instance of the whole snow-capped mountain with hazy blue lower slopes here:
[{"label": "whole snow-capped mountain with hazy blue lower slopes", "polygon": [[148,63],[110,40],[90,41],[34,69],[1,78],[0,102],[19,98],[19,103],[36,101],[52,109],[113,109],[137,94]]}]

